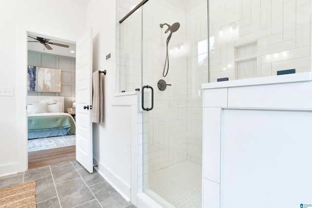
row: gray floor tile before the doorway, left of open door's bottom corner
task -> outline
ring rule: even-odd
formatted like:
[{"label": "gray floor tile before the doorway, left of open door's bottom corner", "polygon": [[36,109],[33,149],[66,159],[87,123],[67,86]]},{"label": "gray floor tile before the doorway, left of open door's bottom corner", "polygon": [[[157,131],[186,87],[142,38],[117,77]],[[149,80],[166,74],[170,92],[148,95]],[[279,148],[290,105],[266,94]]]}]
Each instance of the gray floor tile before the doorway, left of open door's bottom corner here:
[{"label": "gray floor tile before the doorway, left of open door's bottom corner", "polygon": [[51,171],[56,184],[80,177],[72,164],[54,167]]}]

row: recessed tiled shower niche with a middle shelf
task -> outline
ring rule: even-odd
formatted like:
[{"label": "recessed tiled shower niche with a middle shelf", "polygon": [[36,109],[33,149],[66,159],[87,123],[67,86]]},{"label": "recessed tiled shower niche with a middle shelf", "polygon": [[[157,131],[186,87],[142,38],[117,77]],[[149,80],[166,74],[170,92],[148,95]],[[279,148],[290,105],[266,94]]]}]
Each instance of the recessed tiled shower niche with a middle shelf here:
[{"label": "recessed tiled shower niche with a middle shelf", "polygon": [[234,47],[235,79],[253,78],[258,74],[257,41]]}]

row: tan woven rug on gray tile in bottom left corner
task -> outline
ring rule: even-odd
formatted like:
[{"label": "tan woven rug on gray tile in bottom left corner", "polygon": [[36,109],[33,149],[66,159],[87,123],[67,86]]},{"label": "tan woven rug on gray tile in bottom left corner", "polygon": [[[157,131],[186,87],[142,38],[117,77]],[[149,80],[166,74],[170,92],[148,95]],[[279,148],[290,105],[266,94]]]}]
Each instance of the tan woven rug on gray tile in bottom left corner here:
[{"label": "tan woven rug on gray tile in bottom left corner", "polygon": [[36,181],[0,189],[0,208],[36,208]]}]

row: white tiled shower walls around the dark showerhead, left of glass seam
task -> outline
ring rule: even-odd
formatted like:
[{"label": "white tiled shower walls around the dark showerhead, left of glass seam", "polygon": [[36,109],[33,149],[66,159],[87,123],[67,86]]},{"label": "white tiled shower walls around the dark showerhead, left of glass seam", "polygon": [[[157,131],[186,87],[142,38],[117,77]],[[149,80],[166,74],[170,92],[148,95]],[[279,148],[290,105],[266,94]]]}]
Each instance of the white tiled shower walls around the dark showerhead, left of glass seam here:
[{"label": "white tiled shower walls around the dark showerhead, left of glass seam", "polygon": [[[181,1],[182,2],[182,1]],[[198,1],[197,1],[198,2]],[[142,113],[142,131],[146,153],[144,172],[156,171],[184,160],[201,164],[202,160],[202,95],[201,83],[208,81],[207,58],[198,61],[198,43],[204,43],[202,57],[207,56],[207,1],[186,12],[166,0],[150,0],[143,6],[143,85],[154,88],[154,109]],[[119,19],[134,2],[120,0]],[[137,10],[117,27],[117,56],[120,56],[120,91],[140,88],[141,17]],[[180,23],[169,44],[169,73],[162,76],[169,33],[160,23]],[[119,35],[120,33],[120,35]],[[183,46],[183,49],[182,47]],[[177,51],[176,51],[177,48]],[[118,62],[117,62],[118,63]],[[157,82],[168,84],[159,91]],[[148,123],[147,123],[148,122]],[[147,159],[148,158],[148,159]],[[144,158],[143,158],[144,159]],[[149,168],[148,168],[149,167]],[[147,172],[146,172],[147,171]]]}]

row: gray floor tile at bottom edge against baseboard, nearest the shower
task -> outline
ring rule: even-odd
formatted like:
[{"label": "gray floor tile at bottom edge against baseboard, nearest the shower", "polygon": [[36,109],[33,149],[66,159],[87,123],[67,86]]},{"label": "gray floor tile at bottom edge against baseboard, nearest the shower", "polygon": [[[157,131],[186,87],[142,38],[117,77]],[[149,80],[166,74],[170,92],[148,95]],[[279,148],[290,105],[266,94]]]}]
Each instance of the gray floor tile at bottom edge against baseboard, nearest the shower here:
[{"label": "gray floor tile at bottom edge against baseboard, nearest the shower", "polygon": [[102,182],[90,186],[91,191],[97,197],[103,208],[125,208],[131,205],[111,185]]}]

